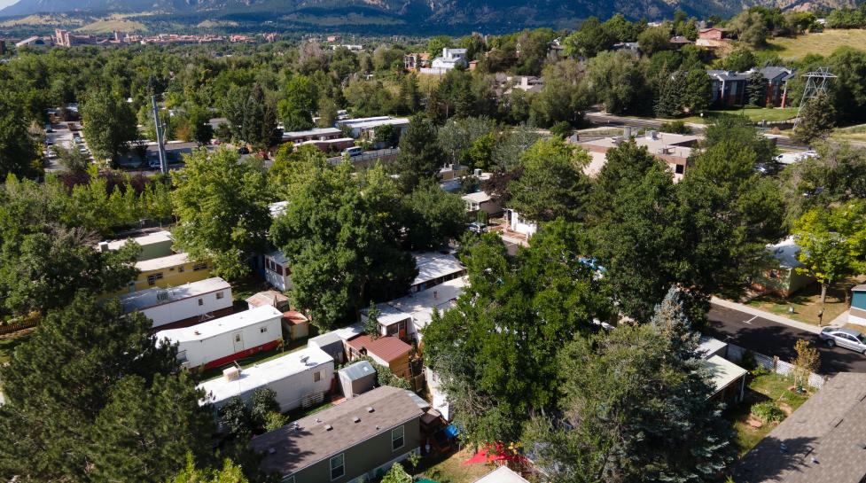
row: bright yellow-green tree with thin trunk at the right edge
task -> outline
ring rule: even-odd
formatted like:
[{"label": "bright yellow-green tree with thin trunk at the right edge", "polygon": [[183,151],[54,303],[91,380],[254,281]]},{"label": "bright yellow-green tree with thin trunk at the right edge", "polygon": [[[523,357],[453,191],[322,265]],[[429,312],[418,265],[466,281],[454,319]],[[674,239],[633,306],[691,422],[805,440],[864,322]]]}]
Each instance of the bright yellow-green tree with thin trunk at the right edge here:
[{"label": "bright yellow-green tree with thin trunk at the right edge", "polygon": [[810,275],[821,284],[821,307],[827,288],[863,268],[866,207],[861,201],[842,206],[815,207],[794,223],[793,236],[802,266],[798,272]]}]

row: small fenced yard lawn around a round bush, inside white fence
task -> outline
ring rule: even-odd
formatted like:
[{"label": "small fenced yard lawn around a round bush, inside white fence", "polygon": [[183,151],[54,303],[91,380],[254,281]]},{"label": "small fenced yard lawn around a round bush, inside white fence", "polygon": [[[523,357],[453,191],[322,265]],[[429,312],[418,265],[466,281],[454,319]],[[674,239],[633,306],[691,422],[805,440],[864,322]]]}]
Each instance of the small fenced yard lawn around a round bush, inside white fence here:
[{"label": "small fenced yard lawn around a round bush, inside white fence", "polygon": [[790,415],[808,399],[808,394],[794,393],[788,390],[789,387],[793,386],[791,378],[775,373],[765,373],[757,377],[749,376],[749,378],[744,400],[725,411],[725,417],[733,423],[734,430],[737,432],[737,451],[740,456],[754,448],[758,441],[776,427],[775,423],[764,424],[761,427],[750,425],[749,415],[753,404],[776,401],[776,406],[782,409],[786,415]]}]

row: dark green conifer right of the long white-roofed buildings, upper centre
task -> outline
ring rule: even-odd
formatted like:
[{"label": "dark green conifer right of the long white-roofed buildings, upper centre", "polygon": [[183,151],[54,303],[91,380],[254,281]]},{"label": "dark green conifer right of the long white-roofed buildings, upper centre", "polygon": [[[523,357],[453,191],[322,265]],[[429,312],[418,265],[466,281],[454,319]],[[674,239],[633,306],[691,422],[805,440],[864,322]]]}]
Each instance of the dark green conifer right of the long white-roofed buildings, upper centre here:
[{"label": "dark green conifer right of the long white-roofed buildings, upper centre", "polygon": [[395,163],[403,191],[410,192],[421,180],[433,179],[443,164],[442,158],[433,123],[421,116],[413,117],[400,138]]}]

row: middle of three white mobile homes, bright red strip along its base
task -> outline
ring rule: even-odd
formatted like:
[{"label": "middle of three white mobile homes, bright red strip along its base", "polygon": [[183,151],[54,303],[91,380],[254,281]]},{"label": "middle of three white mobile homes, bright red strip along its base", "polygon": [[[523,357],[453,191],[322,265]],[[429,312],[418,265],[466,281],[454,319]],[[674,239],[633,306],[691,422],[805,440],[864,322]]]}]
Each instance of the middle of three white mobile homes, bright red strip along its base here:
[{"label": "middle of three white mobile homes, bright red strip along its base", "polygon": [[210,369],[277,347],[283,337],[282,317],[277,308],[264,306],[192,327],[159,331],[156,338],[177,344],[177,359],[184,367]]}]

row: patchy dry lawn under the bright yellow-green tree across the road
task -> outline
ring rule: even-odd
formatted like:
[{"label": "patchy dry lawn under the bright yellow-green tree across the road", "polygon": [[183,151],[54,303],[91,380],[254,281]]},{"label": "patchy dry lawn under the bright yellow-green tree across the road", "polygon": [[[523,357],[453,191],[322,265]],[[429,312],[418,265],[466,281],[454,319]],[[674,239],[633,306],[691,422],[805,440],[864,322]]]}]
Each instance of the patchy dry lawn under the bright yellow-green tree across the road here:
[{"label": "patchy dry lawn under the bright yellow-green tree across the road", "polygon": [[[856,284],[861,284],[863,280],[866,280],[866,277],[846,278],[827,290],[827,299],[824,301],[824,325],[831,323],[833,319],[848,309],[845,291]],[[777,316],[817,325],[818,311],[821,310],[821,285],[811,284],[787,299],[768,293],[749,300],[747,303],[754,308],[766,310]],[[794,309],[793,313],[790,312],[790,308]]]}]

